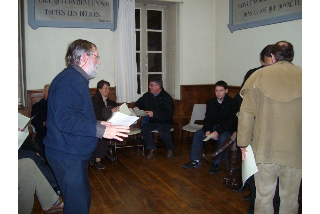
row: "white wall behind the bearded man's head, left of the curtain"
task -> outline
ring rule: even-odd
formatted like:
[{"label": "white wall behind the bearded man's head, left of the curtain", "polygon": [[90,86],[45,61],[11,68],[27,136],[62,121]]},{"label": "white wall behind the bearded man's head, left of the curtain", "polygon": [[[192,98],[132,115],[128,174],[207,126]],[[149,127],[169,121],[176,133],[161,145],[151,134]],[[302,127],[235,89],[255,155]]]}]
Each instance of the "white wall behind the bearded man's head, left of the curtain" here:
[{"label": "white wall behind the bearded man's head, left of the curtain", "polygon": [[101,79],[109,81],[111,86],[115,85],[115,32],[107,29],[47,27],[33,30],[28,25],[27,0],[24,0],[24,4],[27,90],[42,89],[67,66],[67,48],[76,39],[93,42],[101,56],[98,75],[90,81],[89,87],[97,87]]}]

